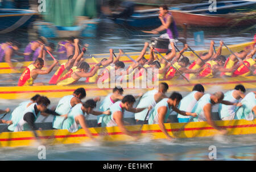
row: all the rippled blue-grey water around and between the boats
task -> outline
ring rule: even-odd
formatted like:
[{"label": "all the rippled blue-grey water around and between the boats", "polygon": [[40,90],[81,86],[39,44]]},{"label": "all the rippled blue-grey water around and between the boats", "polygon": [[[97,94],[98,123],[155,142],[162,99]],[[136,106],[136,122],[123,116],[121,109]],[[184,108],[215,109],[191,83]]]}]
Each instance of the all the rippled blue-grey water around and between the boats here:
[{"label": "all the rippled blue-grey water around and between the boats", "polygon": [[[194,46],[193,32],[204,30],[205,46]],[[239,44],[253,40],[255,29],[241,33],[242,29],[188,29],[188,45],[195,50],[209,49],[210,40],[216,42],[223,40],[227,45]],[[179,29],[182,36],[182,31]],[[18,38],[22,42],[23,51],[29,41],[35,37],[28,35],[26,31],[1,35],[0,42],[6,41],[10,36]],[[84,43],[89,44],[89,54],[109,53],[109,49],[123,49],[125,52],[141,51],[145,41],[150,41],[152,36],[141,31],[120,27],[106,21],[99,25],[96,38],[82,38]],[[55,42],[59,40],[50,40]],[[177,44],[181,49],[182,45]],[[15,57],[19,58],[19,57]],[[54,71],[53,71],[54,72]],[[40,76],[37,81],[48,81],[49,75]],[[16,82],[20,74],[1,75],[1,83]],[[218,91],[218,88],[210,90]],[[186,94],[185,92],[183,95]],[[89,97],[87,97],[89,98]],[[6,104],[14,109],[23,100],[0,100],[0,109],[5,109]],[[52,105],[57,105],[59,99],[52,99]],[[216,107],[213,111],[216,111]],[[126,114],[133,117],[133,114]],[[5,118],[9,118],[8,116]],[[89,119],[96,119],[93,115]],[[38,121],[42,121],[39,118]],[[48,118],[46,122],[52,121]],[[130,143],[84,143],[71,145],[48,146],[46,160],[209,160],[209,146],[217,148],[217,160],[256,160],[256,135],[225,136],[211,138],[175,139],[167,140],[139,140]],[[1,148],[0,160],[38,160],[37,147]]]}]

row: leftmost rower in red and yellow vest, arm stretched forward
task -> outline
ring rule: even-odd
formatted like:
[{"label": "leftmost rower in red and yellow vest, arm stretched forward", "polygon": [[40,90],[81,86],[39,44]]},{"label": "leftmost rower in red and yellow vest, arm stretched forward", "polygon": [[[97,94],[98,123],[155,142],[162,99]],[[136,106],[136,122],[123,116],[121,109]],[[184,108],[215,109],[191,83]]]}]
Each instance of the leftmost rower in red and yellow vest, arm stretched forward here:
[{"label": "leftmost rower in red and yellow vest, arm stretched forward", "polygon": [[18,86],[44,85],[43,83],[34,83],[34,80],[38,77],[38,75],[49,74],[57,63],[58,61],[55,60],[49,68],[42,70],[44,60],[42,58],[37,58],[33,64],[29,65],[26,70],[24,70],[19,78]]}]

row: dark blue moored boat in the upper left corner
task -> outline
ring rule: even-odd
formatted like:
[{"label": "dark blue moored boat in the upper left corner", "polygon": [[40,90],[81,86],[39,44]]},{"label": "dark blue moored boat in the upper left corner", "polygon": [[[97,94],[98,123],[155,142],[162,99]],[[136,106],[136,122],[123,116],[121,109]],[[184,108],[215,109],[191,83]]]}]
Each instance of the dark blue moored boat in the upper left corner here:
[{"label": "dark blue moored boat in the upper left corner", "polygon": [[26,28],[35,20],[38,12],[33,10],[0,8],[0,33],[8,33],[18,28]]}]

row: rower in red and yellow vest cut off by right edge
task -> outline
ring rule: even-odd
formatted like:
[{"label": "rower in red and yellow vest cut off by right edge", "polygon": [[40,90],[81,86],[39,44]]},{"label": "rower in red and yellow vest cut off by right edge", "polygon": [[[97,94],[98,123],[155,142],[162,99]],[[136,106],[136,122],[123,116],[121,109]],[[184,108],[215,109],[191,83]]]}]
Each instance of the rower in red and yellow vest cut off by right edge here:
[{"label": "rower in red and yellow vest cut off by right edge", "polygon": [[243,63],[245,63],[246,66],[243,65],[243,63],[239,63],[237,70],[233,72],[232,76],[249,76],[251,74],[251,70],[249,69],[251,68],[254,70],[256,68],[255,59],[253,59],[255,52],[256,46],[254,47],[253,51],[246,55],[245,59],[243,60]]}]

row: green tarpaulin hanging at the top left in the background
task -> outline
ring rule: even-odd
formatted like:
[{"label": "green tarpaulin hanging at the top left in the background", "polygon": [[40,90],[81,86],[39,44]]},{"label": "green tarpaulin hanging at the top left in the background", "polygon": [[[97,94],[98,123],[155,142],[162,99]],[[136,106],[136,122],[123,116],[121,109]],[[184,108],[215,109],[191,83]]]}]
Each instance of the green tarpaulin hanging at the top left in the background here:
[{"label": "green tarpaulin hanging at the top left in the background", "polygon": [[47,22],[73,26],[76,16],[96,17],[96,0],[46,0],[46,12],[42,14]]}]

